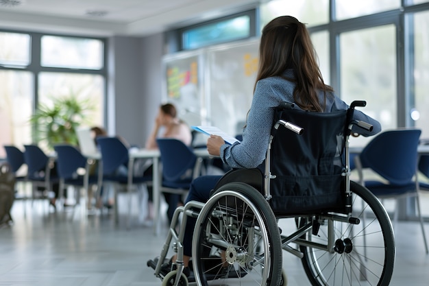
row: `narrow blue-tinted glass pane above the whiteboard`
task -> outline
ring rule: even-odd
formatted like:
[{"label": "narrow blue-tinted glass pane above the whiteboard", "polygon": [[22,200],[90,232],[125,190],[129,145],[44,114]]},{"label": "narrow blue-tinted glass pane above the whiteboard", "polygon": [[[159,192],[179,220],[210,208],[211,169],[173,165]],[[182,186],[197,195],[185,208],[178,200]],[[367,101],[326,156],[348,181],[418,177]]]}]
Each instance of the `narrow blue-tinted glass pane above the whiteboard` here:
[{"label": "narrow blue-tinted glass pane above the whiteboard", "polygon": [[249,36],[250,17],[239,16],[234,19],[187,29],[182,34],[183,48],[197,49],[216,43],[248,38]]}]

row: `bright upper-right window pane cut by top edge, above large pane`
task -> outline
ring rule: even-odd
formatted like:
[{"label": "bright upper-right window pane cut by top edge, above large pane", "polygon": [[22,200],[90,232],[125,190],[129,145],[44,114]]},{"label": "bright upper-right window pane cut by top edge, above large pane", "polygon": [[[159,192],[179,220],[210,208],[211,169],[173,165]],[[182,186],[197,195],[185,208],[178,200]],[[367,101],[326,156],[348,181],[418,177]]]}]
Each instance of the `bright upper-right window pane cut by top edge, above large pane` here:
[{"label": "bright upper-right window pane cut by top edge, above large pane", "polygon": [[401,0],[336,0],[336,20],[350,19],[400,8]]}]

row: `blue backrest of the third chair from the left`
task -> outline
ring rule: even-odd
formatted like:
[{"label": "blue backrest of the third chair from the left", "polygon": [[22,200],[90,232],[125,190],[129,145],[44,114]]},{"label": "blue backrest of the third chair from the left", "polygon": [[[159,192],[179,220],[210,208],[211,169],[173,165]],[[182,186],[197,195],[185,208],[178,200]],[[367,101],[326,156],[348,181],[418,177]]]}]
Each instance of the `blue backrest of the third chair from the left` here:
[{"label": "blue backrest of the third chair from the left", "polygon": [[57,171],[60,178],[74,178],[77,169],[85,167],[86,158],[74,146],[61,144],[53,146],[53,149],[57,154]]}]

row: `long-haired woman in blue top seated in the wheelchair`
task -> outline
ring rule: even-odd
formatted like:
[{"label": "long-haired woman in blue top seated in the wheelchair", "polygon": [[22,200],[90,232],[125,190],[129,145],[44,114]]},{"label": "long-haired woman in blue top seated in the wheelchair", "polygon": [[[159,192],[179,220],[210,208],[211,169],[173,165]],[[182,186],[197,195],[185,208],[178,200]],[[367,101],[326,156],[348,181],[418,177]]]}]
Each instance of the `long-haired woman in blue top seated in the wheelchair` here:
[{"label": "long-haired woman in blue top seated in the wheelchair", "polygon": [[[323,82],[308,30],[293,16],[275,18],[262,29],[258,75],[252,106],[243,130],[243,141],[229,145],[220,136],[211,135],[207,141],[208,152],[219,156],[232,169],[258,168],[263,171],[275,108],[282,102],[289,102],[295,108],[311,112],[335,112],[349,108],[335,95],[332,87]],[[353,119],[373,126],[371,130],[354,128],[354,133],[371,136],[381,130],[378,121],[359,110],[354,111]],[[186,202],[207,202],[210,191],[220,178],[221,176],[196,178],[191,184]],[[190,273],[188,265],[192,256],[195,222],[195,217],[186,219],[182,241],[183,273],[187,276]],[[225,257],[225,251],[220,254],[223,264],[228,258]],[[170,262],[175,259],[176,255]],[[171,263],[164,264],[164,267],[171,267]]]}]

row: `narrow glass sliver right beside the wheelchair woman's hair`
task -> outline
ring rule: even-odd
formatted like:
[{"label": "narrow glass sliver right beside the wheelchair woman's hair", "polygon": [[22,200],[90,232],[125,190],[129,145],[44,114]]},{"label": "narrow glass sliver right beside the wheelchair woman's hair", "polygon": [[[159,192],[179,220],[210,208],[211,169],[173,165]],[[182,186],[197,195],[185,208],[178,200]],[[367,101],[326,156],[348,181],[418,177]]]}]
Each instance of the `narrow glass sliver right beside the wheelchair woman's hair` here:
[{"label": "narrow glass sliver right beside the wheelchair woman's hair", "polygon": [[319,68],[325,84],[330,84],[329,32],[322,31],[310,35],[319,59]]}]

